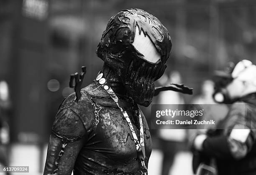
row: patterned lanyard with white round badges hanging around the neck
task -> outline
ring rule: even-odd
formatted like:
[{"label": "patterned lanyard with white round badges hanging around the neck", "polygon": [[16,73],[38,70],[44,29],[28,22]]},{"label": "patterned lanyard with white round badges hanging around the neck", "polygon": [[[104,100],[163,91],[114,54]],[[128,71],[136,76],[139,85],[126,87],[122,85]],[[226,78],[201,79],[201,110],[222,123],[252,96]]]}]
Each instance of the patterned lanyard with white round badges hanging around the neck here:
[{"label": "patterned lanyard with white round badges hanging around the neck", "polygon": [[141,161],[141,173],[142,175],[146,175],[148,172],[148,169],[145,165],[145,145],[144,145],[144,131],[143,131],[143,122],[141,118],[141,112],[139,112],[139,122],[140,122],[140,140],[138,140],[138,137],[135,133],[135,130],[133,128],[133,125],[131,123],[131,120],[127,114],[127,112],[124,110],[123,107],[121,107],[118,103],[118,97],[115,95],[115,92],[112,90],[112,88],[108,85],[106,79],[103,77],[103,73],[99,72],[96,81],[102,85],[102,87],[106,90],[106,92],[110,95],[110,97],[115,101],[116,105],[118,108],[121,110],[123,113],[123,116],[125,117],[125,120],[131,130],[131,133],[133,135],[133,140],[136,145],[136,151],[137,151],[137,156],[138,160]]}]

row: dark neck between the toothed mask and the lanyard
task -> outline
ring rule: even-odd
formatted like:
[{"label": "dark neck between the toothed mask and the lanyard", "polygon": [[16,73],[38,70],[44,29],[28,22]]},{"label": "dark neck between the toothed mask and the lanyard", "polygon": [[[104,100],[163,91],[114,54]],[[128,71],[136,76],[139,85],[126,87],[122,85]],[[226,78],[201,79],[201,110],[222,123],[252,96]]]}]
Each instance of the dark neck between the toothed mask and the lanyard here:
[{"label": "dark neck between the toothed mask and the lanyard", "polygon": [[127,94],[127,90],[125,89],[125,86],[123,85],[118,74],[114,72],[113,69],[111,69],[106,63],[104,63],[102,67],[102,72],[108,84],[115,93],[121,95]]}]

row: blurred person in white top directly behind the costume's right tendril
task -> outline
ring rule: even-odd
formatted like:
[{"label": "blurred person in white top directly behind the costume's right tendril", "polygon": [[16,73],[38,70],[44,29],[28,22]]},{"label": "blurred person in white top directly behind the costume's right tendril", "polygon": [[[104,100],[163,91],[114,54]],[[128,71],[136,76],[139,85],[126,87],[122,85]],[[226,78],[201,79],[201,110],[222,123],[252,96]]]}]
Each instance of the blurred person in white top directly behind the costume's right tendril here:
[{"label": "blurred person in white top directly behind the costume's right tendril", "polygon": [[[168,76],[163,76],[159,82],[162,83],[162,86],[167,86],[170,83],[180,84],[182,78],[178,71],[173,71]],[[182,107],[179,104],[184,104],[184,98],[179,92],[171,90],[162,91],[159,94],[158,104],[177,105],[176,108],[182,110]],[[162,175],[169,175],[170,168],[172,168],[174,163],[175,155],[186,147],[186,131],[183,129],[162,128],[159,130],[159,139],[164,156],[162,161]]]}]

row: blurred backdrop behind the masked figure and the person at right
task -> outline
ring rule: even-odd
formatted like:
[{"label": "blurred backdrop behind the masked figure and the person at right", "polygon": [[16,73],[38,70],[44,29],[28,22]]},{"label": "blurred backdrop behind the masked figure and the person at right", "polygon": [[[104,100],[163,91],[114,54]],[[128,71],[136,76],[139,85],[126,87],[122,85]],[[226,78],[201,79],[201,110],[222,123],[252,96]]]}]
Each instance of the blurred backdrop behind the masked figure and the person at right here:
[{"label": "blurred backdrop behind the masked figure and the person at right", "polygon": [[[84,65],[83,85],[95,79],[103,64],[95,54],[102,32],[111,16],[131,7],[159,18],[172,38],[172,56],[156,86],[194,88],[194,95],[164,92],[154,103],[213,104],[213,71],[229,61],[256,61],[255,0],[0,0],[2,165],[42,174],[54,116],[74,92],[69,75]],[[150,115],[150,107],[143,110]],[[169,137],[151,130],[149,175],[192,175],[187,131],[163,132]]]}]

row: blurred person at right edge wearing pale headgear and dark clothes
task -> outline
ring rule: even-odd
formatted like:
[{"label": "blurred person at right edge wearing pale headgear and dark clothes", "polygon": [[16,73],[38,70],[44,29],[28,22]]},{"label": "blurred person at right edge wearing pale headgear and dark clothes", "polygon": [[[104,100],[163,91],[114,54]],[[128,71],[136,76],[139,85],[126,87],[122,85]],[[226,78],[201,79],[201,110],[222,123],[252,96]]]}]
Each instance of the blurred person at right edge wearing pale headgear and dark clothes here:
[{"label": "blurred person at right edge wearing pale headgear and dark clothes", "polygon": [[[193,141],[194,171],[200,175],[256,174],[256,65],[238,62],[217,72],[214,99],[232,104],[215,130],[199,134]],[[216,162],[216,168],[212,160]]]}]

